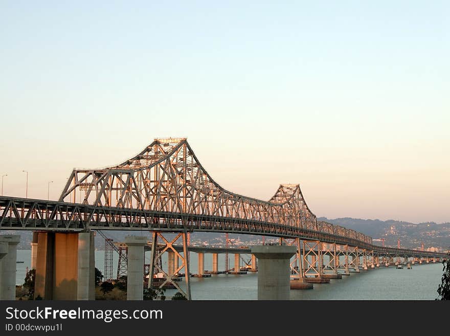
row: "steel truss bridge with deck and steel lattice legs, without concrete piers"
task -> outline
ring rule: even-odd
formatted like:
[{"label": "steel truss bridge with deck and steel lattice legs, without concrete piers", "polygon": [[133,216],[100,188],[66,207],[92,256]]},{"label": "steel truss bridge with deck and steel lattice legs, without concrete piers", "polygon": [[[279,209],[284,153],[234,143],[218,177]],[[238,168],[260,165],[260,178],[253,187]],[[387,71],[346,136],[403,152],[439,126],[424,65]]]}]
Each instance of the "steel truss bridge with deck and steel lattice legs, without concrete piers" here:
[{"label": "steel truss bridge with deck and steel lattice legs, without concrete piers", "polygon": [[[280,185],[268,201],[228,191],[201,166],[185,138],[155,139],[137,155],[114,166],[74,169],[58,201],[1,196],[0,229],[151,231],[152,243],[158,240],[166,243],[163,252],[173,250],[182,261],[179,269],[186,267],[187,270],[189,260],[184,260],[172,244],[183,238],[186,247],[190,232],[279,237],[284,243],[298,245],[298,251],[309,250],[313,255],[311,262],[311,256],[308,259],[298,253],[300,276],[311,269],[321,274],[320,251],[325,254],[334,251],[336,256],[346,250],[347,255],[353,254],[358,260],[364,254],[372,258],[372,264],[374,256],[407,259],[446,256],[380,247],[362,233],[317,221],[298,184]],[[168,232],[179,234],[169,241],[164,237]],[[152,254],[152,260],[159,257],[156,254]],[[358,261],[355,263],[357,267]],[[167,275],[169,282],[172,276]],[[189,298],[189,277],[186,278],[187,290],[182,293]]]}]

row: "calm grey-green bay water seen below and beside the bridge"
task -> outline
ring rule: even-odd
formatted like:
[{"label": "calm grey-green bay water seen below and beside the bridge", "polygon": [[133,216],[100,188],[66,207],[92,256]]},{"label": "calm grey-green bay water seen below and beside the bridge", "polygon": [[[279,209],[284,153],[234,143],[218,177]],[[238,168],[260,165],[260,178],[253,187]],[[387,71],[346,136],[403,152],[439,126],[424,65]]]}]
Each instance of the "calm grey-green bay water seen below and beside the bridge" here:
[{"label": "calm grey-green bay water seen below and beside the bridge", "polygon": [[[149,263],[150,253],[145,254]],[[250,255],[242,255],[246,261]],[[118,255],[113,254],[113,275],[117,273]],[[16,284],[23,284],[27,267],[31,264],[31,251],[17,251]],[[95,252],[96,267],[104,272],[104,251]],[[212,254],[205,254],[205,270],[212,270]],[[163,268],[167,270],[167,254],[162,258]],[[242,263],[241,263],[242,264]],[[230,268],[234,266],[234,255],[229,255]],[[219,255],[218,268],[224,270],[224,254]],[[190,272],[197,273],[197,254],[190,253]],[[181,270],[181,273],[185,273]],[[314,289],[290,290],[291,300],[434,300],[438,297],[437,288],[441,283],[442,264],[412,265],[397,270],[394,266],[351,273],[342,279],[331,279],[328,284],[314,284]],[[257,273],[245,275],[212,275],[211,278],[191,278],[191,294],[194,300],[256,300]],[[185,281],[178,282],[184,288]],[[167,289],[170,298],[177,291]]]}]

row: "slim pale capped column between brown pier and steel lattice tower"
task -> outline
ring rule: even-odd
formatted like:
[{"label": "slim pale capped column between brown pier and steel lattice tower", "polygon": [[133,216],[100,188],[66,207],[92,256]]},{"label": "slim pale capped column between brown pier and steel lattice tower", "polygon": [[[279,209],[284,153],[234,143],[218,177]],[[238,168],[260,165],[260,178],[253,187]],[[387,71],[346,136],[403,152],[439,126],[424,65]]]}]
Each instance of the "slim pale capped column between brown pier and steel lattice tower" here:
[{"label": "slim pale capped column between brown pier and steel lattice tower", "polygon": [[144,298],[144,245],[147,244],[147,239],[126,236],[125,244],[128,247],[127,300],[142,300]]}]

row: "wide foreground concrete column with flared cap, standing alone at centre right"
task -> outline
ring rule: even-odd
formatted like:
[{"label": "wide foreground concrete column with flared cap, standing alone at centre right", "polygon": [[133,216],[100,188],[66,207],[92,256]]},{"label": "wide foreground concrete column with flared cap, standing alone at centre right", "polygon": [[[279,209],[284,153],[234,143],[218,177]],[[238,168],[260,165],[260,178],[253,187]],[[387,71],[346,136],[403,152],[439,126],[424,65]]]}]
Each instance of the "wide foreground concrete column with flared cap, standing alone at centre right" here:
[{"label": "wide foreground concrete column with flared cap, standing alone at centre right", "polygon": [[290,245],[252,247],[258,258],[258,300],[289,300],[289,262],[296,252]]}]

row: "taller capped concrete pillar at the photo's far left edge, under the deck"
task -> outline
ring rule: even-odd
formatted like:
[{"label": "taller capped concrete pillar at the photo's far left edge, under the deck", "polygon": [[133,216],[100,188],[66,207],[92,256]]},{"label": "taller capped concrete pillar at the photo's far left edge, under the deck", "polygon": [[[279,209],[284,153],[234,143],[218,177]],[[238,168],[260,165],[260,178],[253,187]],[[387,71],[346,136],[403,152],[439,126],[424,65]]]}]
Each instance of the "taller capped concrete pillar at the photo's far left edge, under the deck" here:
[{"label": "taller capped concrete pillar at the photo's far left edge, under the deck", "polygon": [[16,261],[19,235],[0,236],[0,300],[16,299]]}]

